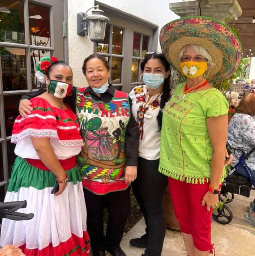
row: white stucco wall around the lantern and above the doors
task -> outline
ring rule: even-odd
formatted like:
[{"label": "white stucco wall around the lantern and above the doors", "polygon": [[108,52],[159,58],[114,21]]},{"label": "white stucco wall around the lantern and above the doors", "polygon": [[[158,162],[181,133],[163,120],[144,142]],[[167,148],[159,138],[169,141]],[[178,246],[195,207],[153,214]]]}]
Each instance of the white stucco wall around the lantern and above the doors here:
[{"label": "white stucco wall around the lantern and above the doors", "polygon": [[[141,19],[159,26],[159,29],[169,21],[179,18],[169,10],[169,3],[180,0],[101,0],[100,2],[130,13]],[[87,86],[81,68],[84,58],[93,53],[93,43],[89,38],[77,35],[77,12],[86,12],[94,6],[93,0],[68,0],[68,38],[69,38],[69,64],[74,72],[74,85]],[[110,21],[111,22],[111,21]],[[158,51],[160,46],[158,43]]]}]

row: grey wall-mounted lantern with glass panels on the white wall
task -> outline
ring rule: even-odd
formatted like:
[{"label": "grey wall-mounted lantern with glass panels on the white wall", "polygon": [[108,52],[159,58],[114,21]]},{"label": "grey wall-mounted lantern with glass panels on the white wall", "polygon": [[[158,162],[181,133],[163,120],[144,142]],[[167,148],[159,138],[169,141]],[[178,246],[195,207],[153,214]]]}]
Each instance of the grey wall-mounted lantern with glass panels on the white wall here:
[{"label": "grey wall-mounted lantern with glass panels on the white wall", "polygon": [[[91,15],[87,15],[88,11],[94,8]],[[104,40],[106,23],[110,20],[103,15],[103,11],[99,9],[99,5],[93,6],[86,13],[77,13],[77,34],[80,36],[90,36],[90,40],[94,43],[101,43]]]}]

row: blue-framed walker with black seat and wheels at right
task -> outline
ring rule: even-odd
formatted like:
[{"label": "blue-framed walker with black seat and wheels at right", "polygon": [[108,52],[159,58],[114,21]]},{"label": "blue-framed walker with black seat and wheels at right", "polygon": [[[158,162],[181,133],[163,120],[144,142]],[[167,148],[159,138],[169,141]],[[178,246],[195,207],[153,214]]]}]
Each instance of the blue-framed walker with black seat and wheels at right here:
[{"label": "blue-framed walker with black seat and wheels at right", "polygon": [[225,178],[220,194],[219,201],[223,202],[220,207],[213,211],[213,219],[220,224],[228,224],[233,219],[231,209],[225,204],[234,200],[234,194],[238,194],[244,197],[250,196],[250,190],[255,190],[255,172],[246,165],[247,160],[251,153],[255,151],[255,147],[248,153],[245,153],[244,148],[233,148],[233,154],[237,157],[237,153],[241,152],[241,155],[237,158],[239,162],[231,167],[231,171],[228,172]]}]

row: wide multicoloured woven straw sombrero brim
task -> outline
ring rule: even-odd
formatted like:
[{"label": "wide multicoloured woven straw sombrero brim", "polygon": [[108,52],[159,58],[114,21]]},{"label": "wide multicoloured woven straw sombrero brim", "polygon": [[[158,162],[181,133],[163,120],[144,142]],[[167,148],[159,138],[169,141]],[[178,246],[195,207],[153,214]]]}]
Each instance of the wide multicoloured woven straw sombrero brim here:
[{"label": "wide multicoloured woven straw sombrero brim", "polygon": [[229,77],[242,60],[242,45],[237,35],[209,17],[190,16],[171,21],[161,29],[159,41],[164,56],[179,72],[181,49],[188,44],[204,47],[215,63],[208,75],[210,81]]}]

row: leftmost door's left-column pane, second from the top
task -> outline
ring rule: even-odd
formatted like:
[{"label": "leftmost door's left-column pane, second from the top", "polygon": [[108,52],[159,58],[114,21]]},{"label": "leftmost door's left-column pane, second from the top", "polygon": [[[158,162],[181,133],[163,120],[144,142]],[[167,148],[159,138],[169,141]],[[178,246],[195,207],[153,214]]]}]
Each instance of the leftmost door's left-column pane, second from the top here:
[{"label": "leftmost door's left-column pane, second from the top", "polygon": [[0,47],[0,54],[4,91],[27,89],[25,49]]}]

